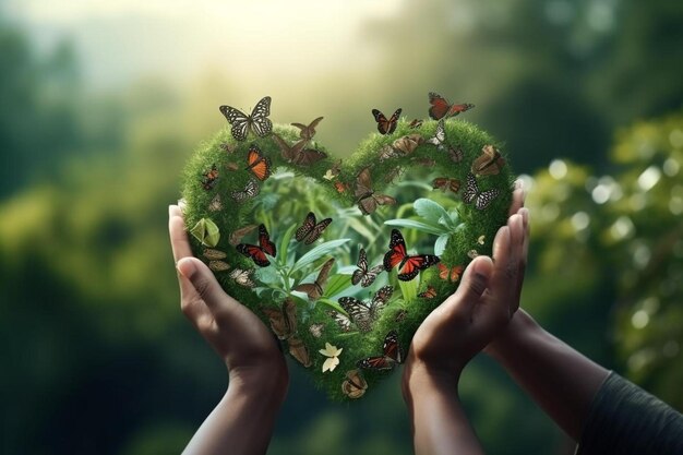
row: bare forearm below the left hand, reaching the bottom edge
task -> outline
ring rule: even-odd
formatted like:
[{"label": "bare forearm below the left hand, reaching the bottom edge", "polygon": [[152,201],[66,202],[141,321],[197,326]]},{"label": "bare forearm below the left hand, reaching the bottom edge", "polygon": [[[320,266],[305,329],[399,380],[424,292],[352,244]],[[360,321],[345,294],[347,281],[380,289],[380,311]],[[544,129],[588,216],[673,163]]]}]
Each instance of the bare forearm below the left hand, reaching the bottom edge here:
[{"label": "bare forearm below the left hand, reaching the bottom edge", "polygon": [[196,431],[184,455],[264,454],[287,386],[231,380],[223,399]]}]

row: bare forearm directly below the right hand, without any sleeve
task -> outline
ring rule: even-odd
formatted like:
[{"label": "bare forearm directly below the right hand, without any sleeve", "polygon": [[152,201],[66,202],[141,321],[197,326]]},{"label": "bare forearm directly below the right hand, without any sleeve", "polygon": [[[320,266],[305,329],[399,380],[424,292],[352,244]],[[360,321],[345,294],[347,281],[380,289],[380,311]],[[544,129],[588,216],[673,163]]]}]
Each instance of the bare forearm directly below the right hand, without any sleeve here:
[{"label": "bare forearm directly below the right hand, without any sleeve", "polygon": [[404,398],[412,422],[416,454],[482,455],[483,450],[463,410],[457,379],[412,371]]}]

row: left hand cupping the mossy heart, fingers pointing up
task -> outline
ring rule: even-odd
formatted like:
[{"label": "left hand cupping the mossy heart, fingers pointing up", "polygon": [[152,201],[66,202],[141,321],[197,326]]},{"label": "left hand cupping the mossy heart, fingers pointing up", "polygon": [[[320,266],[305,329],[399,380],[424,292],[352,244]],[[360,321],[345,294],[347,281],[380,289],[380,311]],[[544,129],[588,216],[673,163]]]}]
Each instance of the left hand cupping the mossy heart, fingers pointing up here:
[{"label": "left hand cupping the mossy heart, fingers pointing up", "polygon": [[180,307],[197,332],[225,361],[231,384],[283,396],[288,385],[285,359],[271,331],[254,313],[228,296],[213,272],[196,258],[182,212],[169,206],[169,234],[180,284]]}]

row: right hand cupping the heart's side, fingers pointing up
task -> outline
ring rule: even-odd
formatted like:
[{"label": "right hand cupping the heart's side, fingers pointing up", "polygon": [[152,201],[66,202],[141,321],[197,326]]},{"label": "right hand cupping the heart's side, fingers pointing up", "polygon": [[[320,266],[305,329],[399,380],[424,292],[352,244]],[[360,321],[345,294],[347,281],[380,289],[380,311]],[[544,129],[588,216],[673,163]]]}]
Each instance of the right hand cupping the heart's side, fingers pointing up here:
[{"label": "right hand cupping the heart's side, fingers pointing up", "polygon": [[522,190],[514,193],[508,218],[493,241],[493,261],[476,258],[457,291],[416,332],[404,370],[404,393],[416,373],[457,383],[465,364],[507,325],[519,308],[528,249],[528,211]]}]

